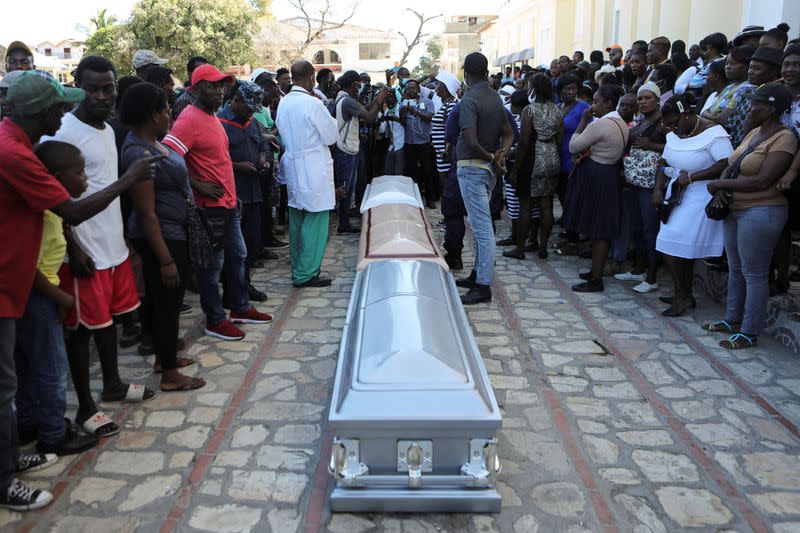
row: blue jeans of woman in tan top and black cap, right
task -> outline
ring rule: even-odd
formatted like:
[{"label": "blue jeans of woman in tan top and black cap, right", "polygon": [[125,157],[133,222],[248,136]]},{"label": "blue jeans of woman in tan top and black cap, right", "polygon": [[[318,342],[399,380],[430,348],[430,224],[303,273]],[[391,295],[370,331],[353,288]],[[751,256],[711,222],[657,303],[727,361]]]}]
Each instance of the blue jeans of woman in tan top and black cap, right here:
[{"label": "blue jeans of woman in tan top and black cap, right", "polygon": [[772,252],[786,225],[788,209],[751,207],[723,222],[728,255],[728,322],[742,322],[745,335],[758,336],[766,327],[769,268]]}]

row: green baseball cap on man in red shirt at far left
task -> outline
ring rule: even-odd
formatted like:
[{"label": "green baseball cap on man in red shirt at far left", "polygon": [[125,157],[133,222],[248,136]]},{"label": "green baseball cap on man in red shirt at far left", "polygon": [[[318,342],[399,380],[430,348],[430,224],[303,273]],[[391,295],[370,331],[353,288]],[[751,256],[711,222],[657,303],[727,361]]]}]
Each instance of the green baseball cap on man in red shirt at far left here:
[{"label": "green baseball cap on man in red shirt at far left", "polygon": [[48,72],[28,70],[11,82],[5,103],[23,115],[36,115],[56,104],[77,104],[85,97],[83,89],[64,87]]}]

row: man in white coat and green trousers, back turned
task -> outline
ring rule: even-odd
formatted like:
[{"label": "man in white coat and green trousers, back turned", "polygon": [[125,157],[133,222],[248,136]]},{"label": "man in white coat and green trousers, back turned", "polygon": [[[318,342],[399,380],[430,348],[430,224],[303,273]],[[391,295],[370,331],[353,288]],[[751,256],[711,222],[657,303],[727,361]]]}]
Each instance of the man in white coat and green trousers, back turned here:
[{"label": "man in white coat and green trousers, back turned", "polygon": [[339,130],[322,101],[314,95],[314,67],[292,64],[292,90],[281,99],[275,124],[286,152],[282,181],[289,194],[289,255],[295,287],[327,287],[320,266],[328,242],[328,212],[335,206],[333,159],[328,148]]}]

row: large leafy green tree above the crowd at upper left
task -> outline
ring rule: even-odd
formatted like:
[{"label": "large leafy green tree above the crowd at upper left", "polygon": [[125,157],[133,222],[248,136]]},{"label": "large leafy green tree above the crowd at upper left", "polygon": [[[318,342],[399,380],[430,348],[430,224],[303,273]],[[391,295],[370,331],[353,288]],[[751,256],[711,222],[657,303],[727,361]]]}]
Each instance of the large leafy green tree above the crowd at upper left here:
[{"label": "large leafy green tree above the crowd at upper left", "polygon": [[246,0],[140,0],[126,26],[134,48],[154,50],[183,78],[194,55],[222,69],[251,62],[258,16]]}]

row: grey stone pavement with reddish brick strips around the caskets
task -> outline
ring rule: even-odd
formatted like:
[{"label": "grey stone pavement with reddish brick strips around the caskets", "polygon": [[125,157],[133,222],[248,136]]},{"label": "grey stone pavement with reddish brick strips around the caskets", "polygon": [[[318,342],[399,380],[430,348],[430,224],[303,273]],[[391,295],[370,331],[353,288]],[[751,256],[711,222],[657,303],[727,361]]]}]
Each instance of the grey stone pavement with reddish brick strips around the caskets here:
[{"label": "grey stone pavement with reddish brick strips around the caskets", "polygon": [[[428,215],[440,231],[438,214]],[[241,342],[198,336],[199,302],[189,294],[194,310],[182,323],[198,361],[190,373],[208,385],[103,406],[122,433],[25,476],[57,499],[39,512],[0,511],[0,527],[800,531],[795,354],[768,339],[752,350],[719,348],[720,337],[700,328],[721,312],[707,298],[691,315],[665,319],[658,294],[628,284],[573,294],[586,261],[514,261],[501,250],[494,300],[468,315],[503,409],[502,512],[331,515],[326,415],[357,244],[357,236],[331,237],[329,289],[293,289],[287,252],[269,262],[255,283],[266,287],[260,307],[275,321],[247,326]],[[120,365],[124,378],[157,385],[152,358],[123,351]],[[93,372],[99,380],[97,365]]]}]

